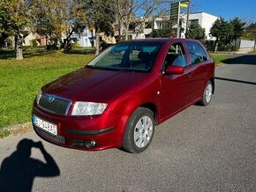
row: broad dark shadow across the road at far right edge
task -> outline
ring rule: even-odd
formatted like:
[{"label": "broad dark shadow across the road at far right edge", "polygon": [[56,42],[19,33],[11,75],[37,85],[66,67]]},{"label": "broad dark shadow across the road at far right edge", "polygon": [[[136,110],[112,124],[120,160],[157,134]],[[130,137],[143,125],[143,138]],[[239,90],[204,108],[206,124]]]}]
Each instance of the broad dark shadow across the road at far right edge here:
[{"label": "broad dark shadow across the road at far right edge", "polygon": [[233,58],[223,60],[222,63],[256,65],[256,55],[239,55]]}]

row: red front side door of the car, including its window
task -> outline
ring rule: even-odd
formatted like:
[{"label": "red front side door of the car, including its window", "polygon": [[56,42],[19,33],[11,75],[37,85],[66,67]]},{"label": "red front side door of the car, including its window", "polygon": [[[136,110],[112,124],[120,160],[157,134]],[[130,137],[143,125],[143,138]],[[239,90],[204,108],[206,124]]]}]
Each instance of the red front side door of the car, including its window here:
[{"label": "red front side door of the car, including its window", "polygon": [[[164,74],[164,70],[168,65],[183,67],[184,73]],[[162,115],[169,116],[190,102],[189,74],[191,71],[188,67],[184,47],[181,42],[176,42],[169,46],[162,71]]]}]

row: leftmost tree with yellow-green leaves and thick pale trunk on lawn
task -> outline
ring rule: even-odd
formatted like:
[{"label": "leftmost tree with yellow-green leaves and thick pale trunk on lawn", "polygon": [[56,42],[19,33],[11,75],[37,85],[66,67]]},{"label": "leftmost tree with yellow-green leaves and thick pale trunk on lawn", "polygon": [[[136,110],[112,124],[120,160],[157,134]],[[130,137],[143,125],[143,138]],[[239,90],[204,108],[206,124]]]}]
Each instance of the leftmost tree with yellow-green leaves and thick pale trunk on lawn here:
[{"label": "leftmost tree with yellow-green leaves and thick pale trunk on lawn", "polygon": [[18,60],[23,59],[22,43],[29,33],[30,6],[31,1],[29,0],[2,0],[0,2],[1,34],[14,36],[16,58]]}]

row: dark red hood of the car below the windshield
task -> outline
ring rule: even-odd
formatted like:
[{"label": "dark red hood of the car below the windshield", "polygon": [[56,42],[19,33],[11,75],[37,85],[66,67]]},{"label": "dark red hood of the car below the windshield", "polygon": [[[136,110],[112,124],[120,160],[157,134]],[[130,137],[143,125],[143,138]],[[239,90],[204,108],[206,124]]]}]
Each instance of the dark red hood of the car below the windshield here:
[{"label": "dark red hood of the car below the windshield", "polygon": [[148,73],[82,68],[42,87],[42,92],[71,100],[109,103],[138,85]]}]

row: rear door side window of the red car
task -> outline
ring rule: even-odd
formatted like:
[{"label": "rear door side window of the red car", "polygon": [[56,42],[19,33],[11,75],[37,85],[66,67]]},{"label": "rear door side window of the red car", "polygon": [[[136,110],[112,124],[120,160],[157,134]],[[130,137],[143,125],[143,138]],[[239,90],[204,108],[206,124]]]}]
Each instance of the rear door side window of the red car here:
[{"label": "rear door side window of the red car", "polygon": [[203,63],[207,61],[207,54],[204,49],[196,42],[185,42],[189,51],[192,64]]}]

